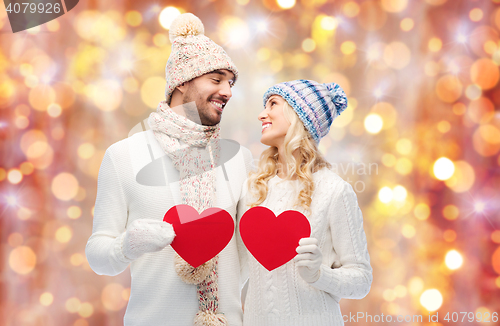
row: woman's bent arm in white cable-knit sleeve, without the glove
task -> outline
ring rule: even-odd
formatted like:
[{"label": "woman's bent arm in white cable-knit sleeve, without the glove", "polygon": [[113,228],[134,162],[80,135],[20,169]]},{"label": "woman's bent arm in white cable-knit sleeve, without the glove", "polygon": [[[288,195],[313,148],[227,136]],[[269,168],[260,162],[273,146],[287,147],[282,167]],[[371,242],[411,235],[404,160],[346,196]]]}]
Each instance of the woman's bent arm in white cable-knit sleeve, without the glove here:
[{"label": "woman's bent arm in white cable-knit sleeve, without the glove", "polygon": [[361,299],[370,291],[373,279],[363,215],[350,184],[342,180],[336,189],[328,218],[333,248],[342,266],[332,269],[322,264],[319,279],[310,284],[340,298]]}]

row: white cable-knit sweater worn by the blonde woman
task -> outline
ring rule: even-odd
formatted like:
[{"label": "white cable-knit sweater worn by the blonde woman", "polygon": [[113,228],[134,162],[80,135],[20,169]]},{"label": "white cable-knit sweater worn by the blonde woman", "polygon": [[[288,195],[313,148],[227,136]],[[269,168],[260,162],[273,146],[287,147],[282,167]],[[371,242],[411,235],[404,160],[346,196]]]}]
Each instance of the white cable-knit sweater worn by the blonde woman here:
[{"label": "white cable-knit sweater worn by the blonde woman", "polygon": [[[351,185],[326,168],[314,173],[313,179],[312,213],[305,215],[311,224],[311,237],[318,239],[323,255],[320,277],[307,283],[293,260],[269,272],[247,252],[250,279],[245,326],[344,325],[339,300],[361,299],[370,290],[372,268],[356,194]],[[304,213],[302,208],[293,207],[299,187],[298,180],[275,176],[268,182],[268,195],[261,206],[276,215],[288,209]],[[251,200],[247,194],[245,201]],[[334,261],[342,266],[332,269]]]}]

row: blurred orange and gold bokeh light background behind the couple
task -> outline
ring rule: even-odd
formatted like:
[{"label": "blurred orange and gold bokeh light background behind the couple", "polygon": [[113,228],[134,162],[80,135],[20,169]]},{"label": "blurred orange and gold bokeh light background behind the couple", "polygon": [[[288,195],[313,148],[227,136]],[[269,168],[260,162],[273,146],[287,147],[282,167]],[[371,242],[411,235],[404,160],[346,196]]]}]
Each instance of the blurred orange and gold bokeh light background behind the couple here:
[{"label": "blurred orange and gold bokeh light background behind the couple", "polygon": [[499,0],[82,0],[16,34],[0,5],[0,324],[122,323],[129,270],[85,258],[96,178],[163,97],[179,12],[240,69],[223,137],[255,158],[269,86],[348,94],[320,150],[357,191],[374,282],[344,314],[500,312]]}]

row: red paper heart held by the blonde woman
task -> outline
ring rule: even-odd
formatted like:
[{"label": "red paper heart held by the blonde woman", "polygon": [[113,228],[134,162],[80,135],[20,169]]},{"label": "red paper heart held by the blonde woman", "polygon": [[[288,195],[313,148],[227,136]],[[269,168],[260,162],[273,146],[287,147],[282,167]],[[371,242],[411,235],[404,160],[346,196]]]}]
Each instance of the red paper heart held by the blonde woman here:
[{"label": "red paper heart held by the blonde woman", "polygon": [[278,217],[266,207],[250,208],[240,220],[240,235],[248,251],[268,271],[297,255],[299,240],[311,235],[304,214],[288,210]]}]

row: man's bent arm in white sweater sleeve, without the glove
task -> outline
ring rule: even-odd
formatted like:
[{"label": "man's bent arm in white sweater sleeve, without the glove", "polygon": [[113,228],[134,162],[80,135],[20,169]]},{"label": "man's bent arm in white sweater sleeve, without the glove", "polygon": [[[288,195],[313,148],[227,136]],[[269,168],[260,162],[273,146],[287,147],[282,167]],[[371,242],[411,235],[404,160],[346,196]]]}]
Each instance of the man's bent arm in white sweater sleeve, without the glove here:
[{"label": "man's bent arm in white sweater sleeve, without the glove", "polygon": [[94,225],[85,248],[90,267],[97,274],[120,274],[132,261],[122,251],[127,217],[125,195],[108,149],[99,169]]}]

